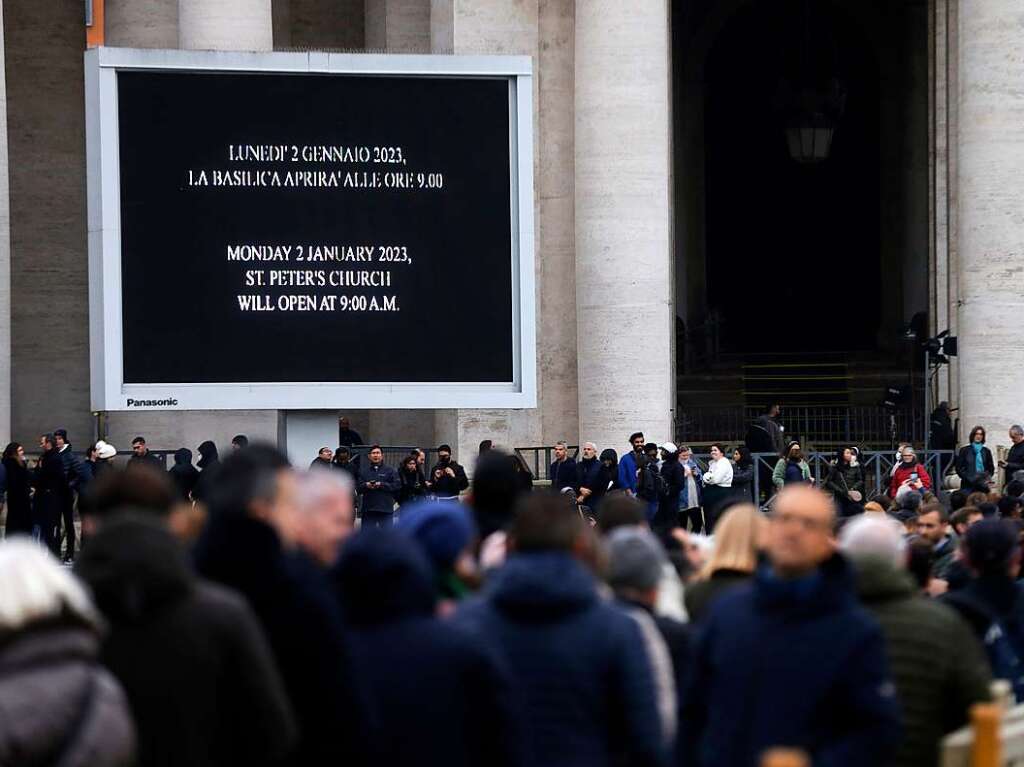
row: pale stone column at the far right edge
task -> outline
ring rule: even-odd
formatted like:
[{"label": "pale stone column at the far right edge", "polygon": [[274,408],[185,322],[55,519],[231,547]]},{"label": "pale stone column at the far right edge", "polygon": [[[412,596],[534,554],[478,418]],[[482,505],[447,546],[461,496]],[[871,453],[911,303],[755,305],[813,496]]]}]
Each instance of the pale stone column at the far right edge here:
[{"label": "pale stone column at the far right edge", "polygon": [[959,5],[961,432],[980,424],[994,445],[1024,421],[1024,15]]}]

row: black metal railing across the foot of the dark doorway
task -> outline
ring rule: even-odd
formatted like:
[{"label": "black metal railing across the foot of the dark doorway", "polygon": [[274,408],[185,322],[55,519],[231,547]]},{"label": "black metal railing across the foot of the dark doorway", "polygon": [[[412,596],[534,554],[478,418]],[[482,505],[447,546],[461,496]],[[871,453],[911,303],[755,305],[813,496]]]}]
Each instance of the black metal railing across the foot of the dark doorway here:
[{"label": "black metal railing across the foot of the dark doorway", "polygon": [[[683,442],[742,441],[757,408],[680,407],[676,433]],[[786,438],[815,445],[864,444],[882,448],[896,439],[921,444],[925,415],[920,408],[889,411],[878,406],[793,406],[782,411],[779,423]]]}]

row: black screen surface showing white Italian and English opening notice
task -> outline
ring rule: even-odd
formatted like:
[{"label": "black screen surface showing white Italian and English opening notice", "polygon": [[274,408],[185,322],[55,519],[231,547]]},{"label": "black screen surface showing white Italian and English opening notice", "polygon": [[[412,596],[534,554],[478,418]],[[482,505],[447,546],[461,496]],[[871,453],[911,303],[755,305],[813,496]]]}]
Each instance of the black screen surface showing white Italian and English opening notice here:
[{"label": "black screen surface showing white Italian and English opening notice", "polygon": [[121,72],[118,112],[125,383],[512,381],[508,80]]}]

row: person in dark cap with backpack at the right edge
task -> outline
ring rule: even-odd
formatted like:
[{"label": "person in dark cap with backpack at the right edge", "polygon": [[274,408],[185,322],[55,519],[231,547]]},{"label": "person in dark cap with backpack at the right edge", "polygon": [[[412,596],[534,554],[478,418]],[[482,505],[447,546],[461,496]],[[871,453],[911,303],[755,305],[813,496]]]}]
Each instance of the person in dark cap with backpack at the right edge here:
[{"label": "person in dark cap with backpack at the right edge", "polygon": [[941,600],[981,640],[992,676],[1009,681],[1017,699],[1024,699],[1024,587],[1017,581],[1017,527],[1005,519],[982,519],[968,528],[963,553],[971,580]]}]

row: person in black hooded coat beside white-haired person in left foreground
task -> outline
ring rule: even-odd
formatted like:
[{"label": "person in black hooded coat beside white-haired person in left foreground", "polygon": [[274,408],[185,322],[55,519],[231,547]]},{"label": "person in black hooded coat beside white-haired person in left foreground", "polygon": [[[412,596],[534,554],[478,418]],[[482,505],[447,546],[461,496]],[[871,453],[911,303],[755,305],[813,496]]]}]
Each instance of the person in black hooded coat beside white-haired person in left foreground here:
[{"label": "person in black hooded coat beside white-haired person in left foreground", "polygon": [[263,631],[193,574],[164,517],[122,509],[75,571],[106,621],[100,659],[128,695],[140,767],[283,762],[298,733]]}]

